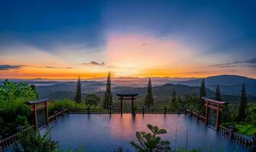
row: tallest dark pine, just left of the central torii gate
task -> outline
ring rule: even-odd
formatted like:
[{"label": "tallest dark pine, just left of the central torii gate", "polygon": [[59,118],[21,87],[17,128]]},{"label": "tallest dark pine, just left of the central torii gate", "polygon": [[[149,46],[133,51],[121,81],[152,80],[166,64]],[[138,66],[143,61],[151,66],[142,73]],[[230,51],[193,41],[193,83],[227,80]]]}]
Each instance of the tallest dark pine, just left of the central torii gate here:
[{"label": "tallest dark pine, just left of the central torii gate", "polygon": [[105,84],[105,93],[104,93],[104,100],[103,100],[103,107],[109,108],[112,106],[112,92],[111,92],[111,78],[110,78],[110,72],[108,74],[108,78]]}]

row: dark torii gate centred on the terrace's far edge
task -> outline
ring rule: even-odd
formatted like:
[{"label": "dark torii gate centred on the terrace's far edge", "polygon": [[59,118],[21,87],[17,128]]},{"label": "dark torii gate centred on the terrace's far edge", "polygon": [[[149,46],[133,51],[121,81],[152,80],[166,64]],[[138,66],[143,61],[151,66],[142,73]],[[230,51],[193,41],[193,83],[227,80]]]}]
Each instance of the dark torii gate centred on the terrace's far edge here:
[{"label": "dark torii gate centred on the terrace's far edge", "polygon": [[123,100],[131,100],[131,113],[134,114],[134,100],[138,93],[117,93],[118,100],[120,100],[120,112],[123,113]]}]

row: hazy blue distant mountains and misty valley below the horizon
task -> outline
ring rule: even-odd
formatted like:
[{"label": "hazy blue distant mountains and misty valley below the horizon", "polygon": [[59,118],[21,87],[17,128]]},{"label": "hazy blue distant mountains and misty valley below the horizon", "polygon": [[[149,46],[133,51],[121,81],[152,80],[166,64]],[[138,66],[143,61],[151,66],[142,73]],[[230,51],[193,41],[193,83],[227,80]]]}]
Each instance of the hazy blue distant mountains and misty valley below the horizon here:
[{"label": "hazy blue distant mountains and misty valley below the horizon", "polygon": [[[16,80],[18,81],[18,80]],[[201,78],[152,78],[153,93],[157,100],[166,100],[171,97],[175,89],[177,94],[183,96],[187,93],[199,93]],[[207,97],[214,97],[215,87],[220,86],[222,99],[229,102],[238,102],[241,84],[245,82],[248,99],[256,102],[256,79],[238,75],[218,75],[205,78]],[[76,90],[76,81],[27,81],[37,85],[41,97],[53,99],[73,99]],[[98,93],[102,96],[105,90],[105,81],[82,81],[82,91],[85,93]],[[113,93],[139,93],[143,97],[146,93],[147,78],[112,78]]]}]

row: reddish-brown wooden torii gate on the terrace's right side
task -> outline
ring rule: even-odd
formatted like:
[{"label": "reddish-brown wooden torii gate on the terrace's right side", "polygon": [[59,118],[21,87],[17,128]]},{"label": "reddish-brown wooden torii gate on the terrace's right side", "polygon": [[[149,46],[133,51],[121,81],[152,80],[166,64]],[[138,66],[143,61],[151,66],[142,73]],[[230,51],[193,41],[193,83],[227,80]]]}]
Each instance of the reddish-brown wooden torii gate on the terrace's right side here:
[{"label": "reddish-brown wooden torii gate on the terrace's right side", "polygon": [[226,102],[224,101],[218,101],[218,100],[211,100],[206,97],[202,97],[202,99],[205,101],[206,106],[206,125],[208,125],[208,113],[209,108],[215,109],[217,111],[217,118],[216,118],[216,130],[219,131],[219,125],[220,125],[220,112],[222,112],[223,107],[225,106]]}]

